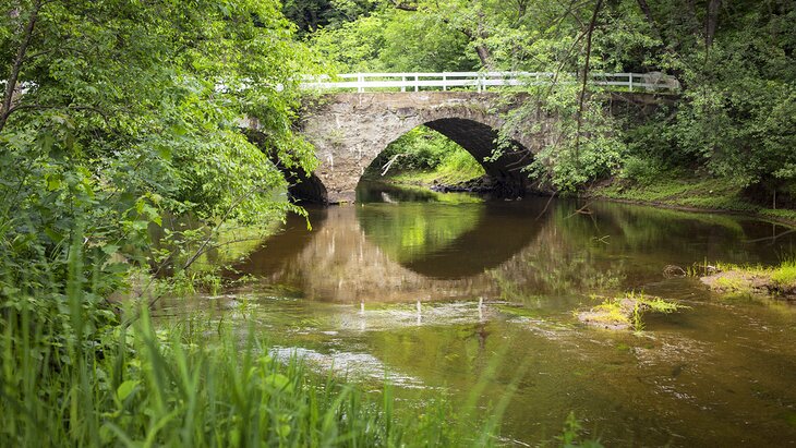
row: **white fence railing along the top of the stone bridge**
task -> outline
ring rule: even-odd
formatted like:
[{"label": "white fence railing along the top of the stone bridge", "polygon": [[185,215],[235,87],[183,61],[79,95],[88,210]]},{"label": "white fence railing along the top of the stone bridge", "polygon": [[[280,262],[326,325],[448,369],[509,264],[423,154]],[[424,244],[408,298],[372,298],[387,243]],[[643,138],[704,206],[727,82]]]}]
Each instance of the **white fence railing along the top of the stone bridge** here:
[{"label": "white fence railing along the top of the stone bridge", "polygon": [[[574,75],[567,76],[574,82]],[[660,72],[652,73],[591,73],[592,85],[627,88],[629,92],[658,90],[677,92],[679,82]],[[359,93],[377,92],[420,92],[448,90],[451,88],[475,88],[484,92],[492,87],[528,86],[551,84],[554,73],[535,72],[444,72],[444,73],[353,73],[335,77],[309,77],[302,88],[319,90],[355,90]],[[560,75],[559,75],[560,77]],[[562,82],[559,80],[559,82]]]}]

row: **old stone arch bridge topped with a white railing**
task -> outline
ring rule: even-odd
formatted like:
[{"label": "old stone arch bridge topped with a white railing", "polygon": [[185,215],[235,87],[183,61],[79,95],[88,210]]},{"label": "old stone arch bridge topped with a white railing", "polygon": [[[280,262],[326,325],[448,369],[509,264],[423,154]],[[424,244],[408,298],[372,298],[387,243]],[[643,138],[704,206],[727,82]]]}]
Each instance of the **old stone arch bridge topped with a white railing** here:
[{"label": "old stone arch bridge topped with a white railing", "polygon": [[[676,80],[661,73],[590,76],[592,85],[620,89],[615,97],[642,108],[659,102],[658,95],[650,94],[679,88]],[[340,75],[334,82],[328,77],[309,81],[303,88],[326,93],[314,104],[305,104],[301,113],[301,132],[315,146],[321,164],[309,175],[288,179],[291,195],[324,204],[353,202],[365,169],[389,143],[421,124],[467,149],[503,194],[521,194],[528,179],[520,170],[556,138],[556,118],[535,108],[531,117],[523,118],[529,125],[522,133],[510,135],[510,148],[496,160],[486,160],[506,112],[536,100],[527,93],[491,89],[551,84],[555,77],[553,73],[524,72],[371,73]],[[347,89],[355,93],[339,93]],[[374,89],[378,92],[366,92]]]}]

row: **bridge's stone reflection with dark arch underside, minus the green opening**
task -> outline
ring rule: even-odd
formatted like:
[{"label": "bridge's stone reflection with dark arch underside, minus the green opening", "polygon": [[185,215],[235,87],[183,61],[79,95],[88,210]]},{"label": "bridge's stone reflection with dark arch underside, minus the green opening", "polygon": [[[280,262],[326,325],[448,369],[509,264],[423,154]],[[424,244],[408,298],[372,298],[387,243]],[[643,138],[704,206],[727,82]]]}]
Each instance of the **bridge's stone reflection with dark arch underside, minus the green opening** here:
[{"label": "bridge's stone reflection with dark arch underside, minus the green opening", "polygon": [[[287,290],[297,288],[307,299],[341,303],[413,303],[426,300],[430,291],[435,300],[495,296],[499,284],[484,271],[510,263],[518,253],[528,251],[543,222],[529,221],[524,214],[507,214],[502,209],[506,204],[478,206],[485,207],[477,214],[485,222],[458,233],[448,246],[461,247],[469,254],[467,257],[462,253],[449,256],[450,253],[432,250],[396,261],[383,242],[372,238],[373,232],[366,234],[360,211],[369,207],[333,207],[311,211],[312,231],[306,230],[303,218],[290,219],[282,232],[268,239],[246,262],[236,265],[234,275],[252,274]],[[504,227],[495,232],[493,218],[502,215],[498,219]],[[317,219],[322,217],[326,219]],[[477,234],[484,230],[492,237]],[[503,243],[493,246],[498,238]],[[437,258],[430,259],[433,257]],[[445,266],[434,266],[435,262],[449,269],[442,273],[438,268]]]}]

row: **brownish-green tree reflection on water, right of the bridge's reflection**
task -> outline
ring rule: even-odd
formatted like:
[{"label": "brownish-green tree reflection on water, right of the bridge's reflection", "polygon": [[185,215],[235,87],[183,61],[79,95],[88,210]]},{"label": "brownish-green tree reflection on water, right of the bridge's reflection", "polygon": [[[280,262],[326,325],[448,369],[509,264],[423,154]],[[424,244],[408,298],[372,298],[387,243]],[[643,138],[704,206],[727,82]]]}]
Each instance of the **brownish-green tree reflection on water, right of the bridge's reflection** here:
[{"label": "brownish-green tree reflection on water, right of the bridge's reflection", "polygon": [[738,244],[760,226],[735,217],[614,203],[593,204],[590,215],[579,208],[556,202],[535,244],[489,271],[503,299],[637,289],[661,280],[668,264],[765,256],[755,244]]}]

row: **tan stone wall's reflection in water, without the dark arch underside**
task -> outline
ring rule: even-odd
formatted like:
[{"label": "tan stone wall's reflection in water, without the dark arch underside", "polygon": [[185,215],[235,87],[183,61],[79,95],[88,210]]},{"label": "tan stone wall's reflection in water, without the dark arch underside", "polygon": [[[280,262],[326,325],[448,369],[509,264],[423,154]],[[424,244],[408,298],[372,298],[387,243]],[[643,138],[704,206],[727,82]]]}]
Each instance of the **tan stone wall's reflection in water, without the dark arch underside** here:
[{"label": "tan stone wall's reflection in water, without the dark arch underside", "polygon": [[[378,213],[376,215],[374,219],[382,219]],[[325,219],[316,219],[319,216],[325,216]],[[413,303],[417,300],[449,300],[495,293],[494,286],[483,274],[467,278],[434,277],[413,270],[412,263],[406,263],[406,266],[399,263],[399,259],[411,262],[412,257],[401,255],[401,244],[393,244],[388,238],[369,238],[358,217],[357,207],[314,210],[311,219],[314,222],[311,232],[305,230],[303,221],[291,219],[286,233],[269,240],[252,254],[248,263],[236,269],[264,277],[268,282],[298,288],[304,296],[317,301]],[[301,226],[304,226],[304,230],[300,230]],[[408,228],[413,229],[411,226]],[[403,231],[405,228],[394,229]],[[413,254],[412,247],[417,247],[410,243],[411,238],[420,241],[434,238],[437,241],[456,240],[456,232],[454,237],[411,234],[411,231],[406,231],[403,234],[385,235],[405,238],[403,246],[409,254]],[[277,245],[278,250],[275,251]],[[450,269],[456,271],[460,268],[451,266]],[[483,271],[483,267],[480,270]]]}]

